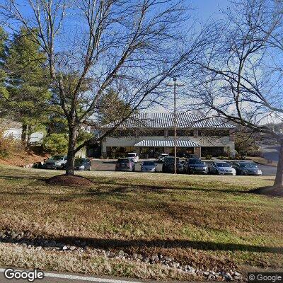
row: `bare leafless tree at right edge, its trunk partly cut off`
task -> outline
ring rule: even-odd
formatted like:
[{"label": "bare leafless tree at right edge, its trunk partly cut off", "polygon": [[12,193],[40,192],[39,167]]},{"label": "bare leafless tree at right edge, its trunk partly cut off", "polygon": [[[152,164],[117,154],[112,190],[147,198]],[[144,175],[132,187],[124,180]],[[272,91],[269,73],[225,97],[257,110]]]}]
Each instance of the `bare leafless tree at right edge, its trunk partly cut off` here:
[{"label": "bare leafless tree at right edge, its trunk partly cut off", "polygon": [[224,23],[214,23],[218,34],[202,60],[187,69],[187,74],[195,74],[194,103],[207,115],[278,141],[274,186],[282,187],[283,131],[267,126],[283,121],[282,1],[233,1],[224,17]]}]

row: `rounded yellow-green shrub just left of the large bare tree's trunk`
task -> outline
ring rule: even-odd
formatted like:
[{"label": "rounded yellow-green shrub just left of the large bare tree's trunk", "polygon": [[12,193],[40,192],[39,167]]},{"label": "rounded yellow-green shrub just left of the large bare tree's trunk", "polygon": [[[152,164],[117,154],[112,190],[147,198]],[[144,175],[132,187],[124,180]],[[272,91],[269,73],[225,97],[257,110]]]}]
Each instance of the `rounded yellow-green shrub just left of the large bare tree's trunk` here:
[{"label": "rounded yellow-green shrub just left of the large bare tree's trunk", "polygon": [[66,134],[50,134],[43,139],[43,147],[50,154],[64,154],[67,152],[68,139]]}]

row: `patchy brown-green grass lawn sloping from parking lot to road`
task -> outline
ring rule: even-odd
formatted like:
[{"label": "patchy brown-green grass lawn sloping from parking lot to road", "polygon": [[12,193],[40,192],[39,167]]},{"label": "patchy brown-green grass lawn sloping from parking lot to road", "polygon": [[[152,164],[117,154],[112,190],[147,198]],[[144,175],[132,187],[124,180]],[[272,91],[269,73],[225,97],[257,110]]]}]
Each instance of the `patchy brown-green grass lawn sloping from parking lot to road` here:
[{"label": "patchy brown-green grass lawn sloping from parking lot to road", "polygon": [[283,199],[248,193],[272,185],[273,177],[86,172],[79,174],[94,181],[91,187],[45,184],[57,174],[1,166],[0,231],[84,240],[89,254],[43,254],[1,243],[0,265],[37,262],[49,270],[186,279],[154,265],[103,258],[89,263],[91,248],[103,247],[161,253],[203,269],[283,268]]}]

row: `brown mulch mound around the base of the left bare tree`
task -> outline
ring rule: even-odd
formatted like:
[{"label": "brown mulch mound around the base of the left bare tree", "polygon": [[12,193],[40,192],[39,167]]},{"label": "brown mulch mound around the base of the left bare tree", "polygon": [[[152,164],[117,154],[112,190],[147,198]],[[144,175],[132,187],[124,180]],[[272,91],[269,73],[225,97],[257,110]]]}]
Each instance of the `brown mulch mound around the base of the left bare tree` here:
[{"label": "brown mulch mound around the base of the left bare tree", "polygon": [[91,186],[93,182],[81,176],[57,175],[46,180],[49,185],[62,185],[69,187]]}]

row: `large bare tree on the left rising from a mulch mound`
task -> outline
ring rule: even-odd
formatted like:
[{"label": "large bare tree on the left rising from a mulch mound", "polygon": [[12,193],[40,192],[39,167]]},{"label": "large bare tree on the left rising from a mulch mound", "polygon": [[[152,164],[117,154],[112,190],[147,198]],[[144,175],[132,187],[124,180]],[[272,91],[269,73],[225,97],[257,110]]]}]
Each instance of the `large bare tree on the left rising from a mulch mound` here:
[{"label": "large bare tree on the left rising from a mulch mound", "polygon": [[[204,37],[195,37],[189,51],[180,50],[180,28],[186,23],[183,1],[173,0],[5,0],[1,23],[18,33],[23,25],[47,54],[54,104],[68,120],[67,175],[74,175],[79,129],[97,125],[105,91],[120,89],[132,111],[161,98],[161,83],[173,76],[185,58],[195,57]],[[126,108],[126,109],[129,109]],[[122,118],[121,118],[122,117]]]}]

